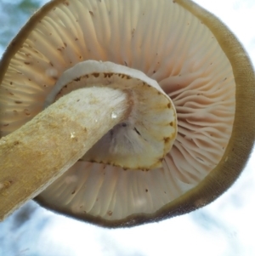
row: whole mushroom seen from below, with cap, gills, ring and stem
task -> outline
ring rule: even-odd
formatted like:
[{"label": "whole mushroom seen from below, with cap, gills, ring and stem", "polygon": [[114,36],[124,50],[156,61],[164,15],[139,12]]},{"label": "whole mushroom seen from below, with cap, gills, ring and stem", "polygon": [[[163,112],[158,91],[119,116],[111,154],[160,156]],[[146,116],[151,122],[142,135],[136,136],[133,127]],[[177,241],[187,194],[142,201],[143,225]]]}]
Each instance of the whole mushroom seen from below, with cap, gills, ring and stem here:
[{"label": "whole mushroom seen from below, with cap, gills, ring and stem", "polygon": [[2,219],[34,196],[110,227],[189,213],[235,182],[254,143],[251,62],[190,0],[49,2],[0,82]]}]

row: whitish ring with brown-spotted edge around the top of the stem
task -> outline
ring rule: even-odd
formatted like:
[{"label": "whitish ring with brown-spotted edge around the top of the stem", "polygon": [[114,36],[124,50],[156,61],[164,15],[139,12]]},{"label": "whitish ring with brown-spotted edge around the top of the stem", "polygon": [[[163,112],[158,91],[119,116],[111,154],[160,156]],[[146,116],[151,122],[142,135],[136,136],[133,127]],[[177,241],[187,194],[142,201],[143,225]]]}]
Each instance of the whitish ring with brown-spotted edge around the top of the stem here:
[{"label": "whitish ring with brown-spotted edge around the top of the stem", "polygon": [[[130,94],[132,110],[82,157],[87,162],[128,169],[161,167],[177,136],[177,115],[172,100],[143,72],[112,62],[86,60],[66,70],[45,100],[45,106],[72,90],[110,87]],[[109,112],[114,119],[117,110]],[[94,122],[97,122],[95,117]]]}]

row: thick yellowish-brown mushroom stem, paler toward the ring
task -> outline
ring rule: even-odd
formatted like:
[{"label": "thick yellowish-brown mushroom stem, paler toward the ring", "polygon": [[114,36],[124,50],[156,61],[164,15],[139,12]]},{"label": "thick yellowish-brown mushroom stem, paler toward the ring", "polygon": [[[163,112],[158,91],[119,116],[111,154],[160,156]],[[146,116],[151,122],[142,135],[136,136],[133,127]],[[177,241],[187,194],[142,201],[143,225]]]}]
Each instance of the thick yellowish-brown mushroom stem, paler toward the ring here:
[{"label": "thick yellowish-brown mushroom stem, paler toward the ring", "polygon": [[128,90],[78,89],[0,139],[0,220],[59,178],[132,105]]}]

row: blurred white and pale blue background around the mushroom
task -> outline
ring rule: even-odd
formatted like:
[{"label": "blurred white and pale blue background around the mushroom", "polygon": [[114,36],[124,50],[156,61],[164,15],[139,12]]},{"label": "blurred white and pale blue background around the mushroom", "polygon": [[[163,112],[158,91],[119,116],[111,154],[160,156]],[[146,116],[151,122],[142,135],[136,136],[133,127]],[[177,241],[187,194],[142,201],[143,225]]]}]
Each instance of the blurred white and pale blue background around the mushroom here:
[{"label": "blurred white and pale blue background around the mushroom", "polygon": [[[0,56],[46,0],[0,0]],[[255,1],[196,0],[240,39],[255,64]],[[229,191],[194,213],[108,230],[28,202],[0,223],[0,256],[255,255],[255,155]]]}]

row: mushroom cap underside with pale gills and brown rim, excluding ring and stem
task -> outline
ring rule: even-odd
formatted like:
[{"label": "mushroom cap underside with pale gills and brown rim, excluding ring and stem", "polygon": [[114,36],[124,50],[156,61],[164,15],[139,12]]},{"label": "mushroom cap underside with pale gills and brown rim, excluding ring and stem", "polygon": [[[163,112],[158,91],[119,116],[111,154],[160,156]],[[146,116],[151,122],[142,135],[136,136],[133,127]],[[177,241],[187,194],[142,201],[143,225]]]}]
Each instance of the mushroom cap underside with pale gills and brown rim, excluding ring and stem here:
[{"label": "mushroom cap underside with pale gills and brown rim, excluding ring and stem", "polygon": [[178,135],[161,168],[81,160],[37,202],[98,225],[132,226],[200,208],[237,179],[255,137],[255,78],[216,17],[189,0],[46,4],[0,63],[1,136],[42,111],[59,76],[82,60],[127,65],[156,80],[173,100]]}]

